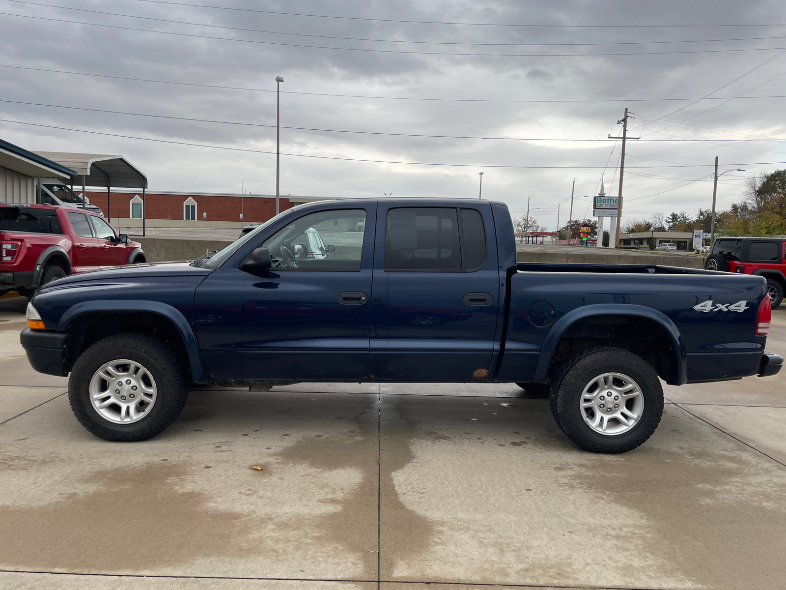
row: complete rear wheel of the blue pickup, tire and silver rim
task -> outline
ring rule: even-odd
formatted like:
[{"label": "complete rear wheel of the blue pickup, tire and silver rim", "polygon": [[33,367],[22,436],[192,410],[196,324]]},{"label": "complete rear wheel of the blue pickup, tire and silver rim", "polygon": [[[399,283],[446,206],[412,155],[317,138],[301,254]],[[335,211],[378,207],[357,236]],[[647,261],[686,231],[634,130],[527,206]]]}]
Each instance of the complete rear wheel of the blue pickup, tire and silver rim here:
[{"label": "complete rear wheel of the blue pickup, tire and silver rim", "polygon": [[663,389],[652,367],[633,353],[589,348],[560,368],[551,411],[579,447],[621,453],[655,432],[663,415]]}]

